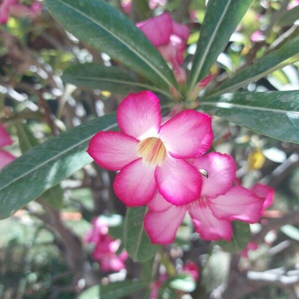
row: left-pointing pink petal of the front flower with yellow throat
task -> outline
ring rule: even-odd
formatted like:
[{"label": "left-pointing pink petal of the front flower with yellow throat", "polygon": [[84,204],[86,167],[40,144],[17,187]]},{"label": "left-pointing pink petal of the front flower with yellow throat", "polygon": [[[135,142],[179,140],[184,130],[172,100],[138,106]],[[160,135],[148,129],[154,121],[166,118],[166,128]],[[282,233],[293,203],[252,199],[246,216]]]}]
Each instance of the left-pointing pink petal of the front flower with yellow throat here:
[{"label": "left-pointing pink petal of the front flower with yellow throat", "polygon": [[138,159],[139,142],[121,132],[98,132],[90,141],[87,152],[102,167],[120,170]]}]

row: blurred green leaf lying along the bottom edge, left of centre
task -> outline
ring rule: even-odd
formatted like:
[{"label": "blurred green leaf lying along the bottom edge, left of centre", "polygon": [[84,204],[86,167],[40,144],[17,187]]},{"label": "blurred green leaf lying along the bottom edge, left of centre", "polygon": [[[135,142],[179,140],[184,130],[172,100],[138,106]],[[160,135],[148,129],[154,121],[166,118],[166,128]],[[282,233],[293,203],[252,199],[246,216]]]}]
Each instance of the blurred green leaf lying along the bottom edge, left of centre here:
[{"label": "blurred green leaf lying along the bottom edge, left of centre", "polygon": [[82,292],[78,299],[119,299],[148,287],[148,282],[125,280],[108,285],[94,286]]}]

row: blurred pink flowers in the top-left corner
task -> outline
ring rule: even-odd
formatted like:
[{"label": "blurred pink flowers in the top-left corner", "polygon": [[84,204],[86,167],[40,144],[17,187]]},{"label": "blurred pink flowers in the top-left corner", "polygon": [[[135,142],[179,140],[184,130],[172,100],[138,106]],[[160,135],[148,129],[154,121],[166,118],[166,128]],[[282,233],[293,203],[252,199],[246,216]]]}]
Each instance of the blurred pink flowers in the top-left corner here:
[{"label": "blurred pink flowers in the top-left corner", "polygon": [[0,4],[0,24],[7,23],[8,16],[34,17],[42,9],[41,2],[35,0],[30,6],[19,3],[19,0],[3,0]]}]

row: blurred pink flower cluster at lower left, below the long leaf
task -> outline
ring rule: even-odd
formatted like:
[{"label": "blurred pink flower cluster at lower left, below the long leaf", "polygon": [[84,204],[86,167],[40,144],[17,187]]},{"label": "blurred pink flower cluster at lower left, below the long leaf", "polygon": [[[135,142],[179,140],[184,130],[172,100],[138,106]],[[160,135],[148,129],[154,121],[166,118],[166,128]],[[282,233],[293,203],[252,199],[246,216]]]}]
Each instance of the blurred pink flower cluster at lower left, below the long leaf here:
[{"label": "blurred pink flower cluster at lower left, below the long leaf", "polygon": [[128,253],[123,251],[120,255],[116,254],[121,241],[114,240],[109,236],[109,227],[101,218],[94,219],[92,224],[93,227],[85,235],[84,241],[95,244],[93,259],[100,263],[101,269],[105,272],[118,272],[124,269]]}]

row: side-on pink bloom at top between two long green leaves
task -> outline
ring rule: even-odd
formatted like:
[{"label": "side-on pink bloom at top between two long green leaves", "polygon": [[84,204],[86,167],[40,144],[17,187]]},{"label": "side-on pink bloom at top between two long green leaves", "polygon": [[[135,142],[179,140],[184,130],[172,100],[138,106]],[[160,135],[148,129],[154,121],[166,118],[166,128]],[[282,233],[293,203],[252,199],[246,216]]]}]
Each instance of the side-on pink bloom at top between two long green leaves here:
[{"label": "side-on pink bloom at top between two long green leaves", "polygon": [[163,58],[172,64],[177,81],[185,82],[186,74],[180,65],[184,61],[183,54],[189,38],[188,27],[174,22],[167,12],[136,25],[158,49]]}]

